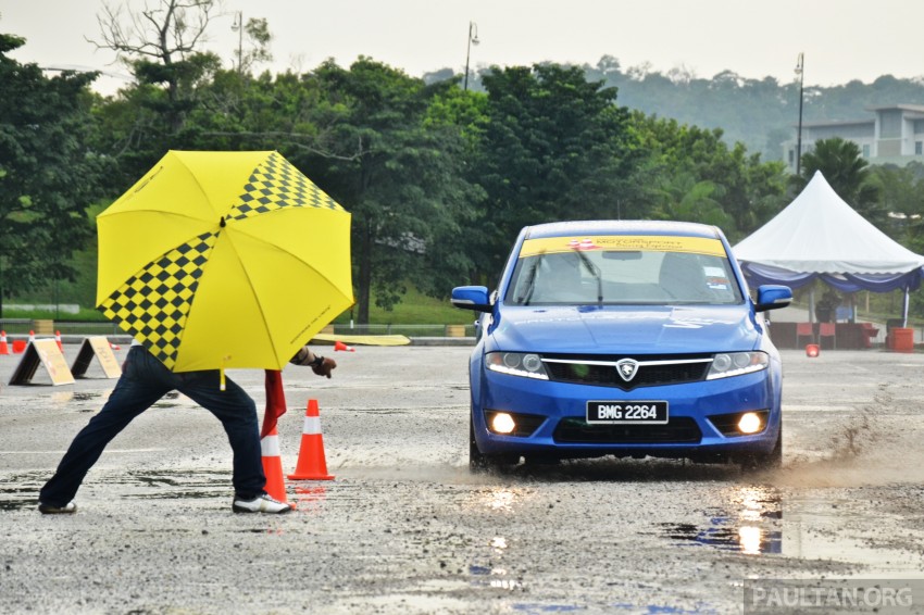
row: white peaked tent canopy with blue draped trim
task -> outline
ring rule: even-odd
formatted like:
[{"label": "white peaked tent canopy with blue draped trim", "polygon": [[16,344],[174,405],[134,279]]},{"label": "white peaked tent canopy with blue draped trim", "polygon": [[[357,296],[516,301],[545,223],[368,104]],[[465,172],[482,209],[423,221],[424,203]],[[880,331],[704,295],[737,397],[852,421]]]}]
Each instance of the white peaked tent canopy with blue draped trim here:
[{"label": "white peaked tent canopy with blue draped trim", "polygon": [[820,171],[786,209],[732,250],[757,284],[790,288],[821,278],[844,292],[908,291],[924,274],[924,256],[858,214]]}]

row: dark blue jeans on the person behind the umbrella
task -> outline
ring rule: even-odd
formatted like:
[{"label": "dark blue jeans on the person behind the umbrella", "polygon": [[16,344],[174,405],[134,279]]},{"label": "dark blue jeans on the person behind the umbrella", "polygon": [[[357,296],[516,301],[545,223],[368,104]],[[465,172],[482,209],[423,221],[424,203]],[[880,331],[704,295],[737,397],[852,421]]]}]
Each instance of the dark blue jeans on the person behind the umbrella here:
[{"label": "dark blue jeans on the person behind the umbrella", "polygon": [[234,452],[235,494],[251,499],[263,493],[266,477],[257,405],[228,378],[225,378],[226,390],[222,391],[218,379],[217,369],[175,374],[143,347],[133,346],[109,401],[71,442],[54,476],[41,488],[39,501],[63,506],[73,500],[105,445],[133,418],[172,390],[187,396],[222,422]]}]

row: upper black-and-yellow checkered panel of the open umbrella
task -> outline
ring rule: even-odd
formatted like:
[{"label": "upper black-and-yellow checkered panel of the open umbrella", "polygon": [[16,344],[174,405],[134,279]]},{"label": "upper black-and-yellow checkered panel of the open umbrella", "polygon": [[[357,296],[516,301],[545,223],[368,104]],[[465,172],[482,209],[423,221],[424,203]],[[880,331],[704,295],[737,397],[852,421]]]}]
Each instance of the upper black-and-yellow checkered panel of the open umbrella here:
[{"label": "upper black-and-yellow checkered panel of the open umbrella", "polygon": [[241,219],[291,206],[344,210],[276,152],[253,171],[239,199],[227,218]]}]

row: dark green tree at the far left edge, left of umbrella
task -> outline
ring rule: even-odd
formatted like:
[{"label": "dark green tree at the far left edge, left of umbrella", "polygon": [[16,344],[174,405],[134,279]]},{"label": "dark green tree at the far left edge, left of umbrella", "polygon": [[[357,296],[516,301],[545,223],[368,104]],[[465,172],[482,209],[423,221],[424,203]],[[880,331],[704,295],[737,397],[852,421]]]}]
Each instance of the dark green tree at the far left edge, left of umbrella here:
[{"label": "dark green tree at the far left edge, left of umbrella", "polygon": [[8,55],[24,42],[0,35],[0,315],[4,291],[74,279],[67,261],[92,237],[85,210],[107,168],[89,148],[97,75],[48,78]]}]

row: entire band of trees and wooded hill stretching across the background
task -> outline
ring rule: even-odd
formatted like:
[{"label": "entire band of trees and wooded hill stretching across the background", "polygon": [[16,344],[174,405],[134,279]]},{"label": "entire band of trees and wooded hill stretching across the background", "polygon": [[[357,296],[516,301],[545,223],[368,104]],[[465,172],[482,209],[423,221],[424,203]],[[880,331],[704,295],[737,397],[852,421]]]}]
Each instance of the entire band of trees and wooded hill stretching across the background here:
[{"label": "entire band of trees and wooded hill stretching across the background", "polygon": [[[89,91],[92,75],[48,78],[16,64],[5,53],[22,40],[0,39],[12,92],[0,100],[0,265],[12,290],[73,274],[70,250],[92,246],[84,209],[98,193],[117,197],[168,149],[278,150],[340,202],[353,219],[360,323],[373,297],[395,305],[407,284],[435,297],[494,284],[524,225],[685,219],[735,242],[799,188],[787,186],[782,162],[762,160],[765,143],[746,145],[789,134],[798,101],[773,79],[624,71],[614,58],[492,67],[469,90],[451,71],[419,79],[370,58],[254,75],[271,53],[265,20],[244,25],[223,67],[201,47],[214,0],[148,1],[100,16],[97,45],[118,51],[136,77],[109,99]],[[866,92],[842,89],[810,90],[808,108],[839,109],[841,95]],[[651,96],[659,105],[644,109]],[[775,137],[754,128],[753,109],[766,105]],[[924,247],[921,168],[869,170],[844,142],[821,142],[802,163],[802,183],[823,170],[861,213]]]}]

